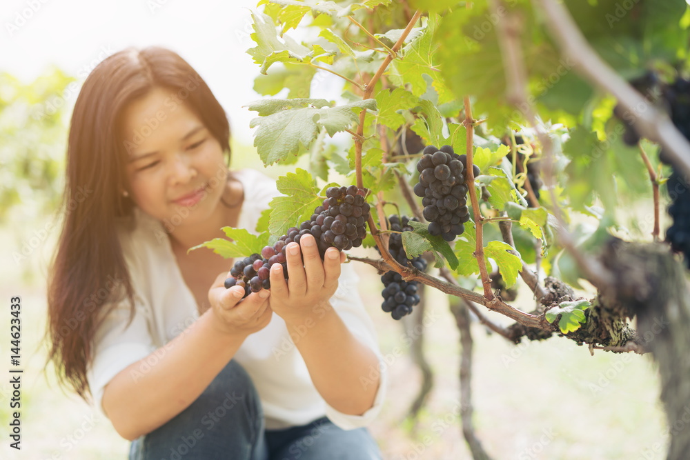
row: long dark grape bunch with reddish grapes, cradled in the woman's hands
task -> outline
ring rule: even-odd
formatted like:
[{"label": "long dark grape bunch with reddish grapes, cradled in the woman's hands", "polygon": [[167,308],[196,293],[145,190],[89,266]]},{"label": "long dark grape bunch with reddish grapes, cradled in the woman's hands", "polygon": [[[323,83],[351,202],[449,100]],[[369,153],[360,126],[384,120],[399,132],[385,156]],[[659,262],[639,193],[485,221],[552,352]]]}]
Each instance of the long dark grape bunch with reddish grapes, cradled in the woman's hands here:
[{"label": "long dark grape bunch with reddish grapes, cradled in the woman's hands", "polygon": [[362,246],[366,237],[366,221],[369,219],[370,206],[364,196],[366,190],[349,187],[330,187],[326,190],[326,199],[311,214],[311,219],[299,224],[299,228],[290,227],[273,246],[264,246],[261,254],[252,254],[236,261],[230,270],[230,278],[225,280],[225,288],[242,286],[245,297],[250,292],[270,289],[269,274],[273,264],[283,267],[283,275],[288,279],[286,246],[299,240],[305,234],[314,237],[321,259],[326,250],[334,246],[338,250],[349,250]]}]

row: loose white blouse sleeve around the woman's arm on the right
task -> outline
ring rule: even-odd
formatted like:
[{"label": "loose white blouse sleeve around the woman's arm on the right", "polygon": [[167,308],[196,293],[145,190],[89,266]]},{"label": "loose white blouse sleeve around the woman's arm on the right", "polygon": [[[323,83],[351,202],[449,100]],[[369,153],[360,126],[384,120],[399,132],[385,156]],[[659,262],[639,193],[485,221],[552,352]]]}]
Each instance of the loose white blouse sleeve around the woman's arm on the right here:
[{"label": "loose white blouse sleeve around the woman's arm on the right", "polygon": [[362,385],[362,388],[368,389],[370,386],[375,385],[376,377],[380,377],[380,381],[373,406],[362,415],[344,414],[326,403],[326,416],[343,430],[354,430],[355,428],[367,426],[377,417],[379,412],[381,412],[386,397],[388,382],[386,363],[379,349],[374,323],[364,309],[362,299],[360,299],[359,292],[357,292],[358,281],[359,277],[355,274],[351,263],[344,263],[338,279],[338,288],[333,297],[331,297],[331,305],[342,318],[348,330],[359,341],[371,348],[379,359],[378,368],[372,368],[366,376],[359,377],[359,383]]}]

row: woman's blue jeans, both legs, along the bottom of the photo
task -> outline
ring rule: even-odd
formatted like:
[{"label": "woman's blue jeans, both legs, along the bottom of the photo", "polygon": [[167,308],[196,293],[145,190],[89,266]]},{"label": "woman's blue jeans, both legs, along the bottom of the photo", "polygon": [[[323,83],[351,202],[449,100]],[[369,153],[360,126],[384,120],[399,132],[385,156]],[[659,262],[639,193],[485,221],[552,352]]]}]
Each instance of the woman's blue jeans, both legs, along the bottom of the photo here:
[{"label": "woman's blue jeans, both legs, along the bottom of the photo", "polygon": [[254,384],[234,359],[185,410],[130,446],[130,460],[380,460],[366,428],[342,430],[323,417],[266,430]]}]

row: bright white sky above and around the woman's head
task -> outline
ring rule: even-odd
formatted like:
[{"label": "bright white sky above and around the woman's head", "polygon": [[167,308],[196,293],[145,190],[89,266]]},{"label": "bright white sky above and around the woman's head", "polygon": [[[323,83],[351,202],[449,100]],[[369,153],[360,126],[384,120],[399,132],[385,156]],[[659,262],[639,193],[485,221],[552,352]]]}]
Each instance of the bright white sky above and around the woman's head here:
[{"label": "bright white sky above and around the woman's head", "polygon": [[251,144],[249,121],[256,114],[242,106],[260,97],[252,89],[259,66],[245,52],[254,46],[248,8],[256,3],[1,0],[0,71],[30,82],[55,63],[85,77],[99,61],[126,46],[165,46],[201,74],[228,113],[233,136]]}]

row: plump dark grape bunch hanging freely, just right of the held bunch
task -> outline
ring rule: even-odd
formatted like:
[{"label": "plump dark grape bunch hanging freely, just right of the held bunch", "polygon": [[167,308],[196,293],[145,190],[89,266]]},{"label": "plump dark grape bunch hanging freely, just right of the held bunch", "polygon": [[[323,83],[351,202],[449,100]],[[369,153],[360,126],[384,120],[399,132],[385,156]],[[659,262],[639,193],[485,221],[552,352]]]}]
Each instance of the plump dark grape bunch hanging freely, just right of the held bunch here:
[{"label": "plump dark grape bunch hanging freely, just right of the held bunch", "polygon": [[[469,221],[467,209],[467,185],[463,172],[467,169],[467,156],[453,152],[451,146],[437,149],[426,146],[417,162],[420,180],[414,192],[422,198],[422,215],[429,221],[428,232],[441,235],[446,241],[453,241],[465,231],[464,223]],[[480,169],[473,165],[475,177]]]}]

